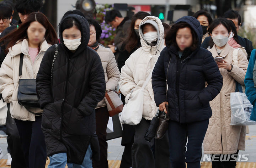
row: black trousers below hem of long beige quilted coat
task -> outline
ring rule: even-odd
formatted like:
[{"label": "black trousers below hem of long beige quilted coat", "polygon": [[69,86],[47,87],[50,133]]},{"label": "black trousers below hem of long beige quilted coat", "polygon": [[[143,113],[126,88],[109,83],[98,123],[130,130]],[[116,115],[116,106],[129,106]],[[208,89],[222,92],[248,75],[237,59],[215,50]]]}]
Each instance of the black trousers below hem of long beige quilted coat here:
[{"label": "black trousers below hem of long beige quilted coat", "polygon": [[[215,156],[214,161],[212,161],[212,168],[235,168],[236,161],[234,161],[234,158],[238,158],[238,152],[239,150],[236,153],[230,155],[212,155],[211,158]],[[234,155],[233,158],[231,155]],[[221,158],[225,161],[220,161]]]}]

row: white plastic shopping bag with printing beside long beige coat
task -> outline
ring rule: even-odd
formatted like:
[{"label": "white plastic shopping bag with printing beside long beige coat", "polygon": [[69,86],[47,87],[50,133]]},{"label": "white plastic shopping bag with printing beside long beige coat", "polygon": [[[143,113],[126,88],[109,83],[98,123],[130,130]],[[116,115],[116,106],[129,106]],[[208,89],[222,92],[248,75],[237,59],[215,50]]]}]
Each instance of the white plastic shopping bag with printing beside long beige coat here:
[{"label": "white plastic shopping bag with printing beside long beige coat", "polygon": [[230,107],[231,125],[256,125],[256,121],[250,120],[253,106],[245,93],[231,93]]}]

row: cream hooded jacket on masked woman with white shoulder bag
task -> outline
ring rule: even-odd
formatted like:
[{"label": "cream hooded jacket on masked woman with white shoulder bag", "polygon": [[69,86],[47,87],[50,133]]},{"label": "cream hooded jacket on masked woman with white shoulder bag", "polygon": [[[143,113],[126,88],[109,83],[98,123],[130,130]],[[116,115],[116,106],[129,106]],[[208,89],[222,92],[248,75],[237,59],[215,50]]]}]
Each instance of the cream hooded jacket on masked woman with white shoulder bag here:
[{"label": "cream hooded jacket on masked woman with white shoulder bag", "polygon": [[[150,23],[158,32],[158,41],[155,46],[150,46],[143,37],[142,25]],[[164,46],[164,27],[158,17],[147,16],[139,26],[140,43],[142,47],[133,52],[126,60],[125,65],[121,69],[121,77],[119,81],[119,89],[124,96],[142,88],[148,75],[151,75],[151,69]],[[131,94],[131,97],[133,94]],[[144,89],[143,118],[151,120],[157,111],[155,105],[154,93],[151,80]]]}]

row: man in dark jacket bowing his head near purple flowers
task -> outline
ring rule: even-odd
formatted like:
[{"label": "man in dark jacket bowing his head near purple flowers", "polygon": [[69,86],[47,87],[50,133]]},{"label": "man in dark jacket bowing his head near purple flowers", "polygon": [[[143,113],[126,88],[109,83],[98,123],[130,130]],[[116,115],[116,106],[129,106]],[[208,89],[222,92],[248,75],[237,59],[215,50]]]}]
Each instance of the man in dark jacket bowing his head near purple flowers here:
[{"label": "man in dark jacket bowing his head near purple flowers", "polygon": [[106,12],[105,21],[113,28],[116,28],[116,36],[114,37],[114,46],[108,45],[111,51],[115,54],[116,60],[120,54],[122,44],[127,36],[128,29],[130,28],[131,20],[129,17],[122,17],[118,10],[111,10]]}]

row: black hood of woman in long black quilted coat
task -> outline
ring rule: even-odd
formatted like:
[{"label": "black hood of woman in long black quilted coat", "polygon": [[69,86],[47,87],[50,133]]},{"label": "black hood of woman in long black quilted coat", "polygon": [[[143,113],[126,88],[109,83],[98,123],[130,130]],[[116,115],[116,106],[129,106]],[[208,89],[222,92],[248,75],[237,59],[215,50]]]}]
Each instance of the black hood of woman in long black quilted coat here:
[{"label": "black hood of woman in long black quilted coat", "polygon": [[[71,17],[71,18],[74,18],[81,26],[82,30],[81,31],[81,45],[82,46],[87,46],[88,43],[89,43],[89,40],[90,40],[90,26],[89,26],[89,23],[87,22],[87,20],[80,16],[80,15],[68,15],[66,16],[65,18],[68,18],[68,17]],[[63,18],[63,20],[65,19]],[[61,25],[62,23],[60,23]],[[62,37],[62,33],[63,32],[60,32],[60,27],[59,26],[59,37],[60,37],[60,43],[63,44],[63,37]]]}]

